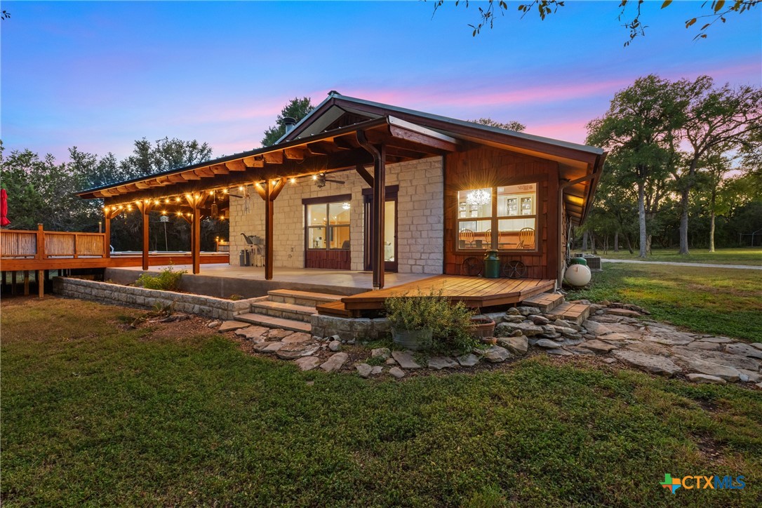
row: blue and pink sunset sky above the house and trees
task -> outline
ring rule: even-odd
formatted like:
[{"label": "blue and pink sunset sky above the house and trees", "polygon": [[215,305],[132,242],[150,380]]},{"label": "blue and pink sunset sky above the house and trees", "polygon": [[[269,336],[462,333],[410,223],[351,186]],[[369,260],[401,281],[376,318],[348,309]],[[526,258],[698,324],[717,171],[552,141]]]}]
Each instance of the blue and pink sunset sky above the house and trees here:
[{"label": "blue and pink sunset sky above the house and trees", "polygon": [[762,85],[762,8],[693,40],[703,2],[647,2],[645,37],[624,47],[619,3],[566,2],[545,21],[511,3],[472,37],[484,3],[2,2],[0,139],[59,160],[165,136],[230,155],[260,146],[291,98],[335,90],[584,142],[643,75]]}]

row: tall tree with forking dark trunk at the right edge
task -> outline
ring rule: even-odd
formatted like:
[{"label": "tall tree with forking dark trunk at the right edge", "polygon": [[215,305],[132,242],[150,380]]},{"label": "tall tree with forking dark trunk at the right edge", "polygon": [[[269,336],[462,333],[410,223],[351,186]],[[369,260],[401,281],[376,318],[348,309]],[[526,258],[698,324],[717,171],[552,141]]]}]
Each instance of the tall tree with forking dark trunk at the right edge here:
[{"label": "tall tree with forking dark trunk at the right edge", "polygon": [[700,161],[708,155],[735,151],[754,144],[754,136],[762,129],[762,89],[751,86],[731,88],[725,84],[715,88],[709,76],[700,76],[693,83],[681,81],[677,88],[687,97],[681,139],[689,149],[685,164],[674,171],[680,190],[680,254],[689,254],[688,210],[690,192],[696,185]]}]

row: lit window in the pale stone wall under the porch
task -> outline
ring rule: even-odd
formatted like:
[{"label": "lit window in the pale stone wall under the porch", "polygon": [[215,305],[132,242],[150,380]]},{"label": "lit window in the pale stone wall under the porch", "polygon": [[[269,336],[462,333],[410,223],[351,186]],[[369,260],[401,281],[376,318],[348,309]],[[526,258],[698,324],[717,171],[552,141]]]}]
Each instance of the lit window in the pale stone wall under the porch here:
[{"label": "lit window in the pale stone wall under the porch", "polygon": [[308,249],[349,250],[349,200],[305,205]]}]

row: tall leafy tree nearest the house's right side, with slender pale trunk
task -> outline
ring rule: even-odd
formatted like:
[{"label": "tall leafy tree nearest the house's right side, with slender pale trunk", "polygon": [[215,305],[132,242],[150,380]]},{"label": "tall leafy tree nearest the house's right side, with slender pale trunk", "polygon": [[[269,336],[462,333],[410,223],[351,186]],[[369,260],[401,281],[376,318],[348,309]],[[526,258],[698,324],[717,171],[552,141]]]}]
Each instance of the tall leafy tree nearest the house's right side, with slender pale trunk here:
[{"label": "tall leafy tree nearest the house's right side, with slender pale trunk", "polygon": [[684,105],[680,104],[674,86],[656,75],[648,75],[617,92],[607,113],[588,123],[587,142],[610,151],[607,167],[615,169],[618,184],[636,186],[639,257],[648,252],[647,190],[652,191],[653,209],[658,209],[673,159],[664,146],[674,145],[682,110]]}]

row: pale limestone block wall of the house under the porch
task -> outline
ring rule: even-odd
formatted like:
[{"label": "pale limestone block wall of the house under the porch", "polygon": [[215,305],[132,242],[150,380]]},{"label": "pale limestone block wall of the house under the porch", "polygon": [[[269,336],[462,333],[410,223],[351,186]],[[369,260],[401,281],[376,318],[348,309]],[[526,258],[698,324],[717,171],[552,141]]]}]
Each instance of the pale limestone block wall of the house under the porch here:
[{"label": "pale limestone block wall of the house under the porch", "polygon": [[[275,200],[274,267],[304,267],[303,198],[351,193],[351,269],[363,267],[363,188],[356,171],[331,177],[346,183],[328,183],[322,189],[310,179],[287,184]],[[386,185],[399,185],[397,198],[397,253],[399,273],[442,273],[444,177],[441,157],[407,161],[386,167]],[[232,191],[239,193],[238,190]],[[245,247],[241,233],[264,236],[264,201],[248,187],[248,198],[230,197],[230,263],[239,263]],[[248,200],[248,212],[245,201]]]}]

